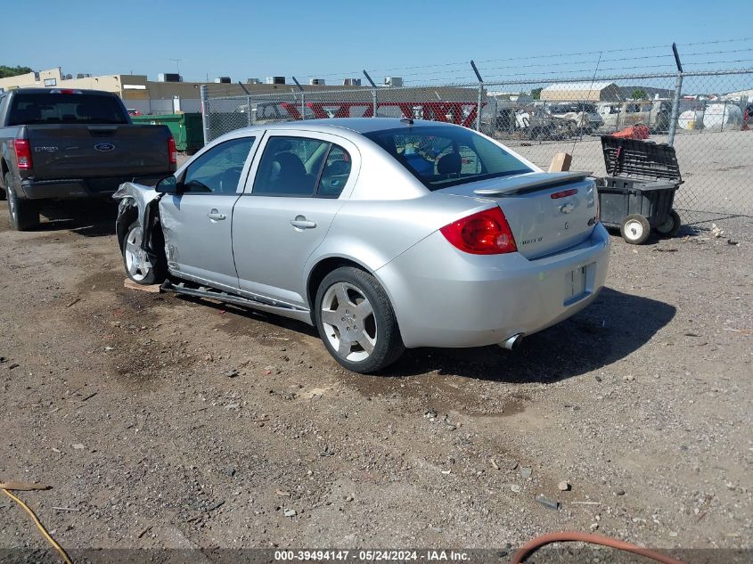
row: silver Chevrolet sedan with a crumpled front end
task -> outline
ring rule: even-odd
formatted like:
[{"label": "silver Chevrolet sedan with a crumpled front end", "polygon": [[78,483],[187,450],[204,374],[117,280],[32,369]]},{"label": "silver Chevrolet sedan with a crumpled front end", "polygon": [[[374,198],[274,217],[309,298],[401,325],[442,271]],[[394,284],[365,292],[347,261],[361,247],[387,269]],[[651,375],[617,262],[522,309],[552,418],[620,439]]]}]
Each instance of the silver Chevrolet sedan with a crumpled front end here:
[{"label": "silver Chevrolet sedan with a crumpled front end", "polygon": [[405,347],[512,348],[607,275],[591,178],[446,123],[240,129],[114,197],[133,281],[310,323],[355,372]]}]

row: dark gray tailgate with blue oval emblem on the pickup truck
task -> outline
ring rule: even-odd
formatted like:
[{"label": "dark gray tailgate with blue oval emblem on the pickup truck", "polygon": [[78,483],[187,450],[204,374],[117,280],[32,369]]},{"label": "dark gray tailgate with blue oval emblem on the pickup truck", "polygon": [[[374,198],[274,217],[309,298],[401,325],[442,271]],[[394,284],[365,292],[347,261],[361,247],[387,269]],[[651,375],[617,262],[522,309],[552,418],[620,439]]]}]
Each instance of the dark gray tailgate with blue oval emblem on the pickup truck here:
[{"label": "dark gray tailgate with blue oval emblem on the pickup truck", "polygon": [[165,126],[27,126],[36,180],[159,175],[170,169]]}]

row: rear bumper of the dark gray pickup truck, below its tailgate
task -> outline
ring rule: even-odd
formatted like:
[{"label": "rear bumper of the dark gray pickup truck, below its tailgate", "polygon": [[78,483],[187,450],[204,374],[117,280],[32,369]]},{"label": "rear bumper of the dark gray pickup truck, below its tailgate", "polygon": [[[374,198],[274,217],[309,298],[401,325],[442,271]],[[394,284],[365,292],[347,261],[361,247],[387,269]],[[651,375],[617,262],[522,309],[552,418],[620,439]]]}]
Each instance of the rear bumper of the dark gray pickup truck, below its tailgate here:
[{"label": "rear bumper of the dark gray pickup truck, below its tailgate", "polygon": [[105,178],[70,178],[65,180],[31,180],[20,183],[20,198],[27,200],[109,198],[124,182],[156,184],[160,178],[171,174],[149,176],[111,176]]}]

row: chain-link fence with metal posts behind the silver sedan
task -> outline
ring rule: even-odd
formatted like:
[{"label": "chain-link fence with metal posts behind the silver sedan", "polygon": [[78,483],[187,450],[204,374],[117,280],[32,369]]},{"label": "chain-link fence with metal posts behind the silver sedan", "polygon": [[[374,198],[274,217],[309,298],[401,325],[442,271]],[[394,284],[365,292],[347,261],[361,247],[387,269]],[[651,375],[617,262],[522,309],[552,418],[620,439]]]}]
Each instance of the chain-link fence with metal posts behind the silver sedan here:
[{"label": "chain-link fence with metal posts behind the silver sedan", "polygon": [[[432,119],[479,129],[542,168],[560,151],[606,175],[600,135],[675,146],[683,219],[753,216],[753,69],[527,79],[452,86],[356,87],[215,96],[202,90],[205,138],[299,119]],[[480,111],[479,111],[480,109]],[[700,216],[699,216],[700,214]]]}]

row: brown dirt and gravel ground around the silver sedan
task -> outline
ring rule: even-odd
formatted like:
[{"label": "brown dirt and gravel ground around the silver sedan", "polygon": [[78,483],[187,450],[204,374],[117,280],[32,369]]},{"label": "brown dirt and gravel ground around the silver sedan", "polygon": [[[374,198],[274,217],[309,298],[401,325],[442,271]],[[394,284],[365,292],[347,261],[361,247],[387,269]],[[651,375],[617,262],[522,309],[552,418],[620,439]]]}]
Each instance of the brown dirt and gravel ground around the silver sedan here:
[{"label": "brown dirt and gravel ground around the silver sedan", "polygon": [[[113,223],[16,233],[0,204],[0,480],[52,486],[20,496],[66,548],[753,545],[753,220],[613,237],[585,312],[380,376],[306,325],[127,290]],[[2,495],[0,547],[47,548]]]}]

